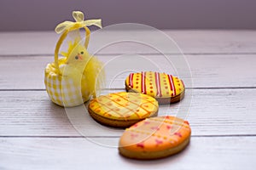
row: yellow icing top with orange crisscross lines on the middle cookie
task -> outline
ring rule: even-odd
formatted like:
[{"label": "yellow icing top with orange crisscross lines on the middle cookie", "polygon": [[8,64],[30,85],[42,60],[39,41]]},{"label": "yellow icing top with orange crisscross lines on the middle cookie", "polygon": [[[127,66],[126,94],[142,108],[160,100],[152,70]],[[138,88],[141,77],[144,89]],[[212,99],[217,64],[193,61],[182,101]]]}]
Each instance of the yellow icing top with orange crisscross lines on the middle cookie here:
[{"label": "yellow icing top with orange crisscross lines on the middle cookie", "polygon": [[109,119],[137,120],[157,112],[158,102],[148,95],[120,92],[92,99],[89,108]]}]

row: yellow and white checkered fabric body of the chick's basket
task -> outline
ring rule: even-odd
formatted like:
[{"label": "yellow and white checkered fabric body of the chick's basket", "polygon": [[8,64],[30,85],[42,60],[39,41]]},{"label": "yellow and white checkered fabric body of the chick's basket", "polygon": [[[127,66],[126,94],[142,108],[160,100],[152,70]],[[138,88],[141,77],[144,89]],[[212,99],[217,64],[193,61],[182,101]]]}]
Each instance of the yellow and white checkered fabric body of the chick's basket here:
[{"label": "yellow and white checkered fabric body of the chick's basket", "polygon": [[72,107],[81,105],[90,98],[89,92],[81,92],[70,77],[62,77],[55,71],[55,65],[45,68],[44,84],[49,98],[57,105]]}]

